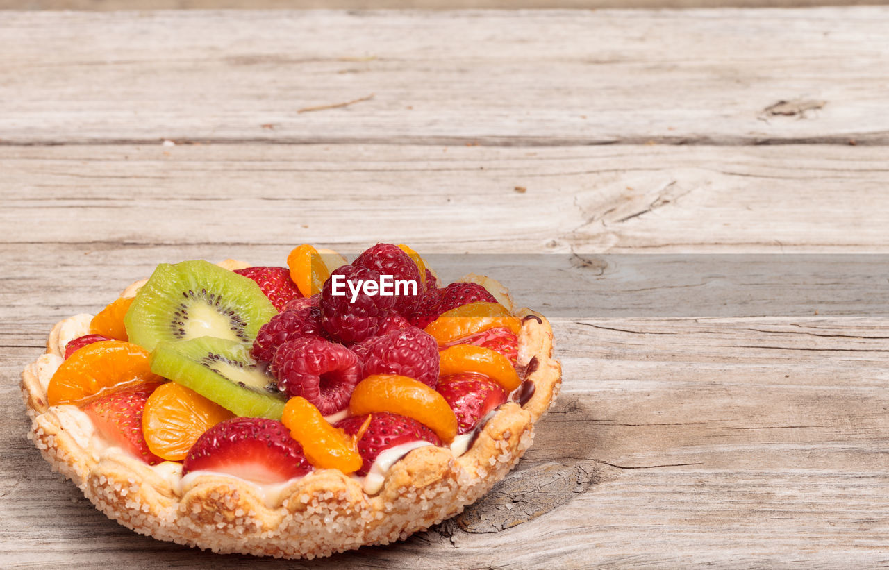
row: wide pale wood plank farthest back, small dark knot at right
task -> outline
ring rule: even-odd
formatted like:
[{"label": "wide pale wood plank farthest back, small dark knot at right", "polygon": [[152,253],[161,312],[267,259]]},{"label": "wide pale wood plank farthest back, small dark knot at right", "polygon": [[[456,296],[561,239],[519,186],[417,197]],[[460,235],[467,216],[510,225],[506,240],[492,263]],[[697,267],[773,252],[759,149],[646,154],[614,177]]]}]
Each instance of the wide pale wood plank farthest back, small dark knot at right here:
[{"label": "wide pale wood plank farthest back, small dark knot at right", "polygon": [[889,140],[885,6],[0,21],[5,144]]}]

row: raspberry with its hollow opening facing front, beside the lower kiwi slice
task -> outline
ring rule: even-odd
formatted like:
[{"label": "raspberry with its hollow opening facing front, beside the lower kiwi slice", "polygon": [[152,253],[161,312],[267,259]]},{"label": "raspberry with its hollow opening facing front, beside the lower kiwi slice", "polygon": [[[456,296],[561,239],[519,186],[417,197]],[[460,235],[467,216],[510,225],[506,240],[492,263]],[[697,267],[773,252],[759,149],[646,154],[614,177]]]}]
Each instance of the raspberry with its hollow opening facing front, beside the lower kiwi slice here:
[{"label": "raspberry with its hollow opening facing front, beside the lower kiwi slice", "polygon": [[344,409],[361,380],[361,365],[354,352],[312,336],[278,347],[271,372],[279,390],[288,397],[306,398],[324,415]]}]

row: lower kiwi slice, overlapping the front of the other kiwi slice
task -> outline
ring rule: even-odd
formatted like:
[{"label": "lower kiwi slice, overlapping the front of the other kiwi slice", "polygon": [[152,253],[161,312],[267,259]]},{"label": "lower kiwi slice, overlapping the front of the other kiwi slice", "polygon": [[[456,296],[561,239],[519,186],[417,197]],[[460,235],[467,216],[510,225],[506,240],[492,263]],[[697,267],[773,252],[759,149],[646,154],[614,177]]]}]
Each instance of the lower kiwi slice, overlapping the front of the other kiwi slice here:
[{"label": "lower kiwi slice, overlapping the front of the other kiwi slice", "polygon": [[284,395],[264,368],[246,345],[211,336],[161,341],[151,354],[151,372],[195,390],[229,412],[280,420]]}]

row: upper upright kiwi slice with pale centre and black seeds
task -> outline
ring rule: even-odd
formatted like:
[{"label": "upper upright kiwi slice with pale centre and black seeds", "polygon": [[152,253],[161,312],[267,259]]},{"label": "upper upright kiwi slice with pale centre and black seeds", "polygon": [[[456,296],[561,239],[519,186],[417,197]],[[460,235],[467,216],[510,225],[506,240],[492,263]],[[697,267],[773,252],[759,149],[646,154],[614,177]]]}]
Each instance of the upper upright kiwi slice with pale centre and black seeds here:
[{"label": "upper upright kiwi slice with pale centre and black seeds", "polygon": [[277,314],[259,285],[209,261],[161,263],[124,317],[131,342],[148,350],[160,341],[213,336],[252,342]]}]

